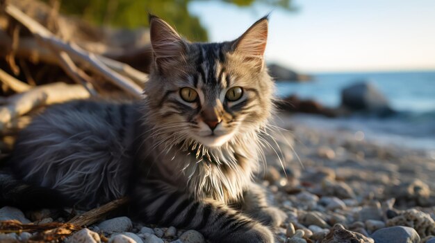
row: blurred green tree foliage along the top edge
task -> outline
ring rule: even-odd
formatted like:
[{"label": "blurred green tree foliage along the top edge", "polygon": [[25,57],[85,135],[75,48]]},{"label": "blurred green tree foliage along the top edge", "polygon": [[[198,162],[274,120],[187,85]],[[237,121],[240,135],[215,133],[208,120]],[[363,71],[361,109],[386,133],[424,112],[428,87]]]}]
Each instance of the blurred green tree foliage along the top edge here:
[{"label": "blurred green tree foliage along the top edge", "polygon": [[[51,0],[43,0],[50,2]],[[207,31],[198,17],[190,15],[193,0],[63,0],[61,12],[79,16],[98,25],[122,28],[148,26],[148,12],[165,19],[188,39],[206,41]],[[255,2],[292,10],[291,0],[220,0],[247,7]]]}]

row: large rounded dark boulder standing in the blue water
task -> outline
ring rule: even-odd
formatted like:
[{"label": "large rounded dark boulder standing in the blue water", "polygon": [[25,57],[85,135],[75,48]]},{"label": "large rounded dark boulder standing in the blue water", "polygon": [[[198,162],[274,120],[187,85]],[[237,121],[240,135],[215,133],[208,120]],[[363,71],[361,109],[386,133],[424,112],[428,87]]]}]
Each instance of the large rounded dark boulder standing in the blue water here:
[{"label": "large rounded dark boulder standing in the blue water", "polygon": [[369,82],[356,82],[343,89],[341,106],[350,111],[363,111],[380,116],[394,113],[385,96]]}]

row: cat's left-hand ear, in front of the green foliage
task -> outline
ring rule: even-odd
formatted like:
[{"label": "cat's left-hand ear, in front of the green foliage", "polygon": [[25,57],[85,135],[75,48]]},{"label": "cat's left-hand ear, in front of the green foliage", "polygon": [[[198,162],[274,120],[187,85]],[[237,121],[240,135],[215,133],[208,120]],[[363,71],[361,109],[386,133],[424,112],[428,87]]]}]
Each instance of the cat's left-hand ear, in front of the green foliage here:
[{"label": "cat's left-hand ear, in front of the green foliage", "polygon": [[183,58],[186,42],[163,19],[149,15],[149,35],[154,60],[159,67],[170,67]]}]

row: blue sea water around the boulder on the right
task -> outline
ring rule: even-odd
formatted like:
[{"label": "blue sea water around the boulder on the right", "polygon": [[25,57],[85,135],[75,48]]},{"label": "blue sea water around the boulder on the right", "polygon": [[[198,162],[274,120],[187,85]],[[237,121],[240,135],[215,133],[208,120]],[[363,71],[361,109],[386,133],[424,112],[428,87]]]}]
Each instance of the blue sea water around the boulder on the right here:
[{"label": "blue sea water around the boulder on the right", "polygon": [[277,95],[297,94],[328,107],[340,105],[340,91],[354,82],[370,82],[386,96],[397,114],[386,118],[324,118],[297,115],[306,125],[361,131],[368,140],[435,151],[435,71],[378,73],[315,73],[312,82],[278,82]]}]

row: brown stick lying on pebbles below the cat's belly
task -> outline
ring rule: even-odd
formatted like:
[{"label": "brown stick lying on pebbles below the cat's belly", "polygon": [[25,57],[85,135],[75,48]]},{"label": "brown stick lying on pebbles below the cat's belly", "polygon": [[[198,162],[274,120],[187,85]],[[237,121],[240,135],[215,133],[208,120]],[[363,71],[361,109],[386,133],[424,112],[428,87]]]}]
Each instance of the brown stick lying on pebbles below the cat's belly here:
[{"label": "brown stick lying on pebbles below the cat's belly", "polygon": [[125,197],[115,201],[110,201],[110,203],[104,204],[99,208],[94,208],[86,213],[83,213],[83,215],[77,215],[76,217],[73,217],[68,223],[74,224],[76,226],[88,226],[90,224],[94,224],[95,222],[104,219],[104,217],[106,217],[111,211],[126,205],[128,201],[129,200]]}]

